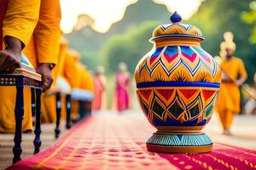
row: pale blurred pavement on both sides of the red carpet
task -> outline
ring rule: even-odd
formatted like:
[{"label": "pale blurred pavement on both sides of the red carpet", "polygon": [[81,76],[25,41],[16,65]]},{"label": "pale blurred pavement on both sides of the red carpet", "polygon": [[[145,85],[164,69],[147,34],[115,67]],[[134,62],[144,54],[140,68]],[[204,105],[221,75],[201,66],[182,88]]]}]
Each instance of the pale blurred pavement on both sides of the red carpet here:
[{"label": "pale blurred pavement on both sides of the red carpet", "polygon": [[[138,114],[141,111],[125,111],[124,114]],[[116,114],[114,111],[102,112],[101,114]],[[142,116],[142,114],[139,114]],[[214,141],[225,144],[233,144],[249,149],[256,150],[256,116],[236,116],[231,129],[233,136],[224,136],[221,134],[221,127],[218,117],[213,116],[212,121],[206,127],[205,131]],[[62,135],[67,132],[64,128],[65,123],[61,122]],[[45,150],[50,145],[55,144],[54,137],[55,124],[42,125],[42,147]],[[8,167],[12,161],[13,134],[0,134],[0,169]],[[32,133],[23,134],[23,152],[22,158],[32,156],[34,135]]]}]

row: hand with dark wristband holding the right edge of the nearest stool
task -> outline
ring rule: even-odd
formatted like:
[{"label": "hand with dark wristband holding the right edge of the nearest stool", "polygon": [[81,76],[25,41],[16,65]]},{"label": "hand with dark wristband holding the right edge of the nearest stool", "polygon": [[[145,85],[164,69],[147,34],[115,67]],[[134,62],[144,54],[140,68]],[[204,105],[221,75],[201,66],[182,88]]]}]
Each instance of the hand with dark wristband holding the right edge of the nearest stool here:
[{"label": "hand with dark wristband holding the right edge of the nearest stool", "polygon": [[48,90],[53,82],[49,63],[40,64],[37,72],[42,75],[42,92]]}]

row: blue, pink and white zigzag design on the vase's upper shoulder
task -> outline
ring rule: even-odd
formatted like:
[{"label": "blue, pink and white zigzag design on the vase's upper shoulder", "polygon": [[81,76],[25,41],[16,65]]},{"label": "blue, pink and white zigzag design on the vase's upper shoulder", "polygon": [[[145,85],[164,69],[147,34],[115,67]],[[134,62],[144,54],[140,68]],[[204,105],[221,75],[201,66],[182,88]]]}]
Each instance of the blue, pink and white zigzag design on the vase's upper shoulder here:
[{"label": "blue, pink and white zigzag design on the vase's upper shoulder", "polygon": [[[197,55],[200,57],[195,59],[195,56]],[[190,75],[188,76],[189,78],[192,78],[192,80],[194,77],[198,77],[198,74],[202,73],[205,76],[206,74],[211,74],[211,77],[214,79],[218,72],[217,63],[212,59],[212,56],[207,54],[207,52],[203,51],[201,48],[196,47],[166,46],[166,48],[156,48],[154,54],[152,54],[148,59],[149,61],[147,62],[147,60],[145,60],[146,62],[143,62],[143,65],[140,65],[137,70],[138,76],[148,77],[148,81],[150,78],[153,78],[154,80],[154,72],[159,65],[162,71],[166,74],[166,77],[172,77],[172,74],[177,74],[175,72],[182,65],[186,68],[186,71]],[[145,75],[146,72],[142,73],[144,69],[148,72],[148,76]],[[207,71],[209,73],[207,73]],[[163,77],[165,76],[163,75]],[[201,79],[204,80],[204,77]],[[167,80],[170,81],[169,78]]]}]

